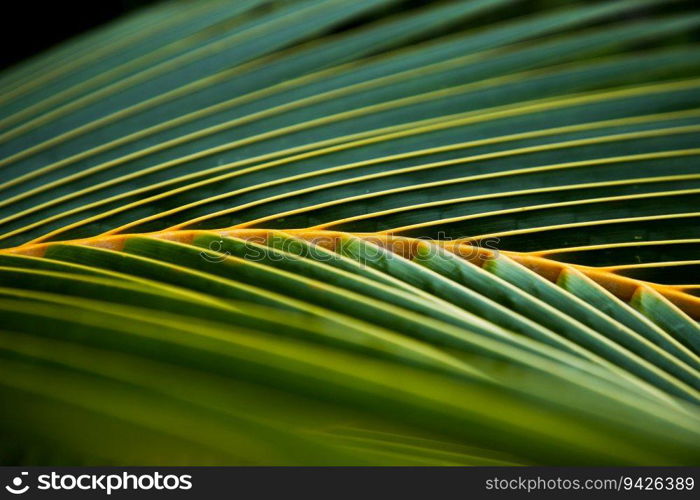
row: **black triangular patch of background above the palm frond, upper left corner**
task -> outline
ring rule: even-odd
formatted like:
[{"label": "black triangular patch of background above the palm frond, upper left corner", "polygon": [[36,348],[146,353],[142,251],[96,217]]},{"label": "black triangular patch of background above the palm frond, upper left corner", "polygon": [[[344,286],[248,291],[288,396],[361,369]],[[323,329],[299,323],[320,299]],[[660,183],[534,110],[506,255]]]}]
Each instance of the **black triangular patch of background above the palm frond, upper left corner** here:
[{"label": "black triangular patch of background above the palm frond, upper left corner", "polygon": [[6,0],[0,70],[139,7],[162,0]]}]

